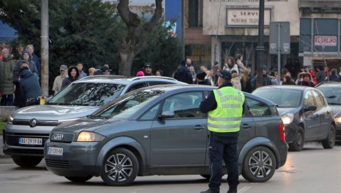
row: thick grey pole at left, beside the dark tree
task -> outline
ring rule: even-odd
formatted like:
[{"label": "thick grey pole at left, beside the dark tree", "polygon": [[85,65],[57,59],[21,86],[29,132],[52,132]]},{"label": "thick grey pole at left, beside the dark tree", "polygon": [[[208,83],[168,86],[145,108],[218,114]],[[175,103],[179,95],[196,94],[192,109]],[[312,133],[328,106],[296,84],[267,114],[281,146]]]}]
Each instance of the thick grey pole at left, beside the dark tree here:
[{"label": "thick grey pole at left, beside the dark tree", "polygon": [[41,95],[48,96],[48,0],[41,0]]}]

